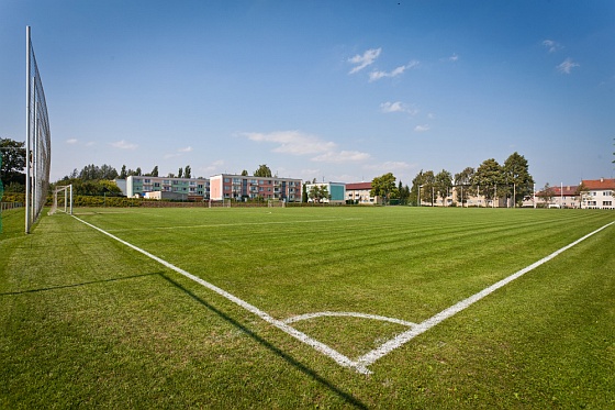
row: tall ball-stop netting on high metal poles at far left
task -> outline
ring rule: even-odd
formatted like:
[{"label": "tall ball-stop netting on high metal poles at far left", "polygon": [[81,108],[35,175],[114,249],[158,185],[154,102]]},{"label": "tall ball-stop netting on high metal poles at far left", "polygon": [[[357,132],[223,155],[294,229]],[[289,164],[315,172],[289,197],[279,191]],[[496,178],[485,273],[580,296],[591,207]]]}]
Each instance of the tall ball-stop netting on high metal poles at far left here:
[{"label": "tall ball-stop netting on high metal poles at far left", "polygon": [[26,36],[26,138],[25,138],[25,233],[41,217],[49,189],[52,134],[45,91],[32,47],[30,26]]}]

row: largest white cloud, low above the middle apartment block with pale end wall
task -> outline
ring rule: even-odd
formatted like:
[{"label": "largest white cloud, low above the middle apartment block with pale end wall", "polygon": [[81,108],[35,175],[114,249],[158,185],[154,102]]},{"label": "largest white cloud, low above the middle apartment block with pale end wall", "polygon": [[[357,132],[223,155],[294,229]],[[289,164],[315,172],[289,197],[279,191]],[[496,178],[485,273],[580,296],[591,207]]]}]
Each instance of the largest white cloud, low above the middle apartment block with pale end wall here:
[{"label": "largest white cloud, low above the middle apartment block with pale end wall", "polygon": [[256,142],[276,143],[275,153],[308,155],[333,151],[335,143],[322,141],[315,135],[302,133],[300,131],[277,131],[271,133],[244,133],[248,140]]}]

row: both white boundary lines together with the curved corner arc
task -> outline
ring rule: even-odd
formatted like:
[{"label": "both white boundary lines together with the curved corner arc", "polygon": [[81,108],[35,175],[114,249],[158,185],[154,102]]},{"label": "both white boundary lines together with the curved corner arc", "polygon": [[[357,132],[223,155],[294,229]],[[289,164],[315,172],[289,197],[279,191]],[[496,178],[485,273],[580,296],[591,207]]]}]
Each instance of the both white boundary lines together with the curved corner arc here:
[{"label": "both white boundary lines together with the curved corner arc", "polygon": [[[527,274],[528,272],[537,268],[538,266],[551,261],[554,257],[558,256],[559,254],[561,254],[564,251],[568,251],[569,248],[571,248],[572,246],[579,244],[580,242],[586,240],[588,237],[599,233],[600,231],[611,226],[612,224],[615,223],[611,222],[607,223],[606,225],[599,228],[597,230],[586,234],[585,236],[561,247],[560,250],[551,253],[550,255],[541,258],[538,262],[535,262],[534,264],[514,273],[513,275],[491,285],[490,287],[481,290],[478,293],[474,293],[472,296],[470,296],[467,299],[463,299],[457,303],[455,303],[454,306],[451,306],[450,308],[447,308],[445,310],[443,310],[439,313],[436,313],[435,315],[433,315],[432,318],[416,324],[416,323],[412,323],[412,322],[406,322],[406,321],[402,321],[402,320],[398,320],[398,319],[391,319],[391,318],[387,318],[387,317],[379,317],[379,315],[374,315],[374,314],[366,314],[366,313],[354,313],[354,312],[321,312],[321,313],[308,313],[308,314],[302,314],[302,315],[298,315],[298,317],[293,317],[293,318],[289,318],[284,321],[281,320],[277,320],[275,318],[272,318],[271,315],[269,315],[268,313],[264,312],[262,310],[256,308],[255,306],[237,298],[236,296],[228,293],[227,291],[219,288],[215,285],[210,284],[206,280],[203,280],[153,254],[150,254],[147,251],[144,251],[126,241],[123,241],[121,239],[119,239],[115,235],[112,235],[111,233],[92,225],[91,223],[88,223],[75,215],[72,215],[72,218],[75,218],[76,220],[78,220],[79,222],[93,228],[94,230],[105,234],[107,236],[142,253],[143,255],[158,262],[159,264],[168,267],[171,270],[177,272],[180,275],[183,275],[185,277],[206,287],[210,290],[213,290],[214,292],[221,295],[222,297],[231,300],[232,302],[241,306],[242,308],[246,309],[247,311],[256,314],[257,317],[259,317],[260,319],[262,319],[264,321],[266,321],[269,324],[272,324],[273,326],[278,328],[279,330],[283,331],[287,334],[290,334],[291,336],[295,337],[297,340],[312,346],[313,348],[315,348],[316,351],[321,352],[322,354],[324,354],[325,356],[331,357],[332,359],[334,359],[337,364],[344,366],[344,367],[350,367],[354,368],[356,372],[360,373],[360,374],[365,374],[365,375],[369,375],[372,372],[370,369],[368,369],[367,367],[371,364],[373,364],[376,361],[378,361],[379,358],[388,355],[389,353],[391,353],[392,351],[394,351],[398,347],[401,347],[402,345],[404,345],[405,343],[410,342],[412,339],[414,339],[415,336],[426,332],[427,330],[432,329],[433,326],[435,326],[436,324],[443,322],[444,320],[455,315],[456,313],[465,310],[466,308],[470,307],[471,304],[473,304],[474,302],[481,300],[482,298],[484,298],[485,296],[494,292],[495,290],[500,289],[501,287],[507,285],[508,282],[515,280],[516,278]],[[297,322],[300,320],[304,320],[304,319],[312,319],[312,318],[317,318],[317,317],[324,317],[324,315],[354,315],[354,317],[359,317],[359,318],[367,318],[367,319],[378,319],[378,320],[385,320],[385,321],[390,321],[393,323],[400,323],[400,324],[405,324],[411,326],[410,330],[398,334],[395,337],[389,340],[388,342],[384,342],[383,344],[381,344],[379,347],[372,350],[371,352],[368,352],[367,354],[362,355],[361,357],[359,357],[356,361],[350,359],[349,357],[343,355],[342,353],[337,352],[336,350],[327,346],[326,344],[318,342],[315,339],[310,337],[309,335],[306,335],[303,332],[298,331],[297,329],[290,326],[288,323],[292,323],[292,322]]]}]

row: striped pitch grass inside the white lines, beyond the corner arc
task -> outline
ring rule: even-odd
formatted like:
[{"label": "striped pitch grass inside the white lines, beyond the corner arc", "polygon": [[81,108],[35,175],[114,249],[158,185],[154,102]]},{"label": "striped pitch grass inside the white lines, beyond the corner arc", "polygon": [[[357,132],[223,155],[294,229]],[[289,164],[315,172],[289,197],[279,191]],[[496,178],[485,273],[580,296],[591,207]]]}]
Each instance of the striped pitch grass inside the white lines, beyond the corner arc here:
[{"label": "striped pitch grass inside the white lines, beyond the corner arc", "polygon": [[[399,319],[418,322],[572,242],[592,226],[588,213],[535,210],[275,211],[169,210],[169,218],[178,223],[182,218],[199,218],[244,221],[245,225],[225,231],[153,231],[148,235],[128,231],[120,236],[280,319],[355,309],[393,317],[403,312]],[[317,220],[323,213],[336,218],[309,228],[255,224]],[[128,217],[105,215],[100,226],[113,225],[118,218],[133,225],[152,224],[152,219]]]}]

